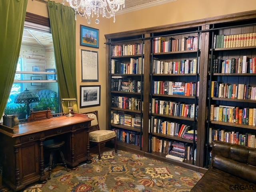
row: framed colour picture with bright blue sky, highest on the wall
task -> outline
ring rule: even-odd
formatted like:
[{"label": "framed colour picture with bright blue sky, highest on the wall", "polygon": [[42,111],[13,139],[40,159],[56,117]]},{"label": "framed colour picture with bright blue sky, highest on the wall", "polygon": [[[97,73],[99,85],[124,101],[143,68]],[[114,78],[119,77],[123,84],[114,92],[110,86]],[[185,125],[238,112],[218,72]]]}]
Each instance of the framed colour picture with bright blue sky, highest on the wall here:
[{"label": "framed colour picture with bright blue sky, highest on the wall", "polygon": [[99,48],[99,30],[80,25],[80,45]]}]

